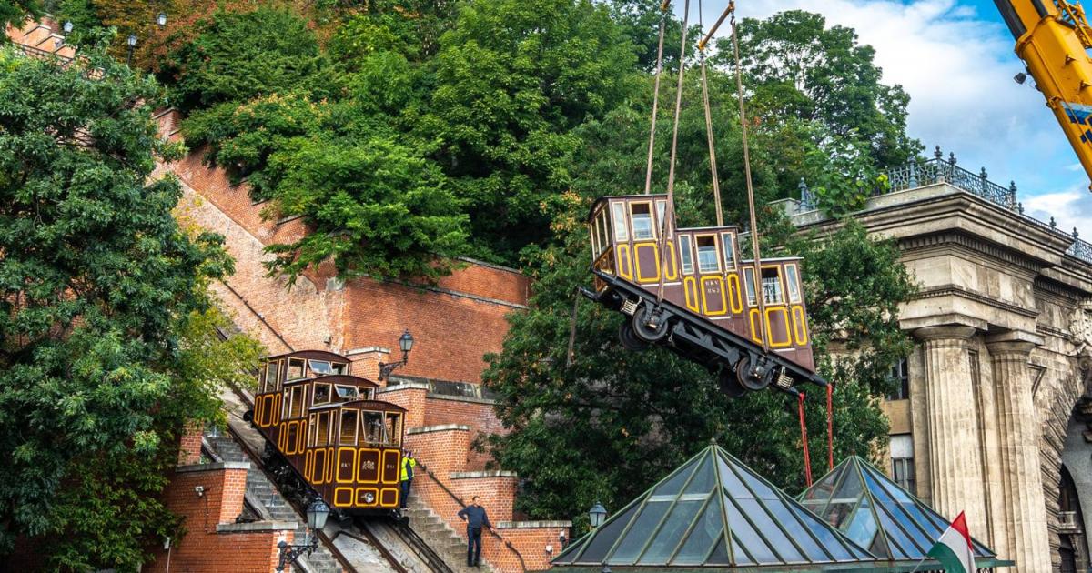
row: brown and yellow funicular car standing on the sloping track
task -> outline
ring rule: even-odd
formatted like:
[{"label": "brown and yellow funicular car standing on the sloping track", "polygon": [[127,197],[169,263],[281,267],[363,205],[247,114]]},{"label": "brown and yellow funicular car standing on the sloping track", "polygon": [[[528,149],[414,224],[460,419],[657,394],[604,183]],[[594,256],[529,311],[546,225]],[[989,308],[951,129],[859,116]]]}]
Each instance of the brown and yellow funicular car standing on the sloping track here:
[{"label": "brown and yellow funicular car standing on the sloping track", "polygon": [[375,399],[375,382],[344,356],[301,350],[262,359],[252,423],[268,450],[335,511],[400,505],[405,408]]}]

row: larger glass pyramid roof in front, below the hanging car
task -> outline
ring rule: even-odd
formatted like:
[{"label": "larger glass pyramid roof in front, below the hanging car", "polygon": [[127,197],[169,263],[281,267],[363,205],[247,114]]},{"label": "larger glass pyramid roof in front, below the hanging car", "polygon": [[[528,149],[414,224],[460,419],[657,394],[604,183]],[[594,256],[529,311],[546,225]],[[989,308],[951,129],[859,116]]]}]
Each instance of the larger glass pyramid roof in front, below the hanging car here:
[{"label": "larger glass pyramid roof in front, below the hanging car", "polygon": [[595,571],[603,565],[819,571],[875,563],[864,548],[715,444],[553,561]]}]

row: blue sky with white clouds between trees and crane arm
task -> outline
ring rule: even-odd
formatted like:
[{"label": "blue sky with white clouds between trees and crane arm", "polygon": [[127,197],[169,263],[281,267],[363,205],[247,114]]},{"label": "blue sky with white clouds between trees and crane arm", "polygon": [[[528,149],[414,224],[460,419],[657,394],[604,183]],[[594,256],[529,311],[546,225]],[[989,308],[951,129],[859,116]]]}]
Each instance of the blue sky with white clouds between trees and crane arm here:
[{"label": "blue sky with white clouds between trees and crane arm", "polygon": [[[682,0],[674,2],[681,15]],[[727,0],[702,3],[708,24]],[[739,0],[737,7],[740,16],[756,17],[803,9],[856,29],[876,49],[885,83],[910,94],[909,131],[929,153],[939,144],[966,169],[985,167],[1006,186],[1016,181],[1030,214],[1053,215],[1059,227],[1076,226],[1092,240],[1089,177],[1032,82],[1012,81],[1023,64],[993,0]]]}]

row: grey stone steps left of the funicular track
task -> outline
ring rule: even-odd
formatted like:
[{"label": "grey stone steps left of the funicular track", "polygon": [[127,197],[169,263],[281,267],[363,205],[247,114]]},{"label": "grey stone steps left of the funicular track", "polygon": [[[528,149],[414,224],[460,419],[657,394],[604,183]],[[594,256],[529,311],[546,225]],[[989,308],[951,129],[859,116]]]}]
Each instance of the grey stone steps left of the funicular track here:
[{"label": "grey stone steps left of the funicular track", "polygon": [[[225,462],[250,462],[250,469],[247,470],[247,501],[256,501],[261,508],[256,508],[259,512],[266,512],[269,517],[281,522],[295,522],[296,530],[294,544],[301,544],[307,539],[307,520],[296,513],[296,510],[277,492],[273,484],[265,475],[254,467],[253,462],[242,452],[229,437],[206,435],[209,443],[216,454]],[[342,568],[334,559],[333,554],[322,545],[310,556],[299,559],[297,565],[302,564],[304,571],[310,573],[342,573]]]}]

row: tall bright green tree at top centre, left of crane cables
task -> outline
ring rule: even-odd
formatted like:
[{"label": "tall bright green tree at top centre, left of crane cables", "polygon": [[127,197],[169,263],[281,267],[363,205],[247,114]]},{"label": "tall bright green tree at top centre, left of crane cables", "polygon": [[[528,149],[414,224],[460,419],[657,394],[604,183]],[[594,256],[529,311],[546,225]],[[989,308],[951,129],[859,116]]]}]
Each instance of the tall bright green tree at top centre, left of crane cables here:
[{"label": "tall bright green tree at top centre, left of crane cables", "polygon": [[633,93],[632,47],[590,0],[474,0],[440,38],[416,132],[467,202],[478,256],[514,263],[546,239],[571,180],[571,130]]}]

